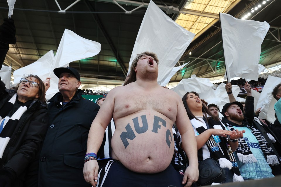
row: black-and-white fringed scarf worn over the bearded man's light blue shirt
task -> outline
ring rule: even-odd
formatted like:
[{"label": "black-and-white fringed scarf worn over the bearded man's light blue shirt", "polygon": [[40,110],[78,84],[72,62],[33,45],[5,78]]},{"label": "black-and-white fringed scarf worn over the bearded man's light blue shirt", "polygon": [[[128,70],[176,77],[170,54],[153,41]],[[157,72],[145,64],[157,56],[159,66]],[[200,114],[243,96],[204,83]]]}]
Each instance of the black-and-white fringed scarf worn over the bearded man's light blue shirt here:
[{"label": "black-and-white fringed scarf worn over the bearded man's light blue shirt", "polygon": [[[227,129],[229,130],[235,130],[232,125],[225,123],[227,126]],[[267,163],[274,166],[278,165],[278,158],[275,155],[273,149],[270,147],[264,136],[261,134],[260,131],[258,131],[254,126],[250,126],[247,124],[244,124],[245,127],[248,127],[253,135],[256,137],[258,140],[258,143],[261,146],[261,150],[263,151],[263,154],[265,155],[267,159]],[[236,150],[238,159],[243,162],[243,163],[253,163],[253,162],[258,162],[258,160],[254,157],[251,149],[247,145],[246,141],[244,140],[243,137],[239,138],[239,145]]]}]

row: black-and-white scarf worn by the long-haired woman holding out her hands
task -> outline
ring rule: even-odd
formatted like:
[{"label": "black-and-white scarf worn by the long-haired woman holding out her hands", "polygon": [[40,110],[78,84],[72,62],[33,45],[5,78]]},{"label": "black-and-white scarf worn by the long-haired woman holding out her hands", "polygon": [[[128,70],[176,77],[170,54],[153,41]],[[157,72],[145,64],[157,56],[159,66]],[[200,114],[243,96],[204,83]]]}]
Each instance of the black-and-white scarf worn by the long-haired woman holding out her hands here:
[{"label": "black-and-white scarf worn by the long-haired woman holding out her hands", "polygon": [[[204,118],[204,122],[201,120],[196,120],[195,118],[190,120],[192,126],[198,131],[199,134],[203,133],[205,130],[207,130],[205,124],[207,123],[206,118]],[[210,119],[211,120],[211,119]],[[222,124],[218,122],[217,124],[212,124],[214,129],[223,129]],[[210,136],[208,141],[206,142],[206,146],[208,147],[208,150],[210,153],[213,153],[217,160],[219,161],[221,168],[228,168],[232,169],[234,176],[233,176],[233,182],[239,182],[244,181],[243,177],[241,176],[241,173],[238,168],[238,164],[235,160],[234,154],[232,152],[232,149],[227,142],[227,139],[225,137],[220,137],[221,142],[216,143],[214,139],[214,135]]]}]

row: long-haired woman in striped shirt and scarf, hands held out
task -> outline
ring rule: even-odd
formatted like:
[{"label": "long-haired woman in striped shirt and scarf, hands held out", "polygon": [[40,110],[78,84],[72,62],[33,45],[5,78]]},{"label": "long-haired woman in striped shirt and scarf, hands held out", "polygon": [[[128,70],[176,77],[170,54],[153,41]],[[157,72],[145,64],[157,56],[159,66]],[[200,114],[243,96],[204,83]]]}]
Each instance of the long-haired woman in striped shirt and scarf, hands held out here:
[{"label": "long-haired woman in striped shirt and scarf, hands held out", "polygon": [[226,176],[222,182],[243,181],[232,153],[238,146],[235,139],[243,133],[225,130],[220,120],[202,104],[198,93],[187,92],[182,101],[195,132],[198,161],[211,157],[219,162]]}]

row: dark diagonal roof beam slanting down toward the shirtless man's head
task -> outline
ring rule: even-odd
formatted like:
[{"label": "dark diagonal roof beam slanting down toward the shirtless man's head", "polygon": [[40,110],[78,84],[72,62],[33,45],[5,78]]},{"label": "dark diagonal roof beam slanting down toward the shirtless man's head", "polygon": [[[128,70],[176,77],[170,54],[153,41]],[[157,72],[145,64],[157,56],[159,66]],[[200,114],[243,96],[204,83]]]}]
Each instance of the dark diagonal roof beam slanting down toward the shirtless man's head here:
[{"label": "dark diagonal roof beam slanting down toward the shirtless man's head", "polygon": [[[95,8],[88,2],[88,1],[84,1],[86,6],[88,7],[88,9],[90,11],[93,11],[95,12]],[[126,77],[127,76],[127,69],[126,69],[126,66],[123,62],[123,60],[121,59],[121,57],[118,55],[118,52],[117,52],[117,49],[115,48],[114,46],[114,43],[112,41],[112,39],[110,38],[109,34],[107,33],[107,31],[105,30],[102,22],[100,21],[100,18],[98,15],[94,15],[92,14],[92,17],[93,19],[95,20],[95,22],[97,23],[97,26],[100,28],[100,30],[102,31],[103,35],[104,35],[104,38],[107,40],[107,43],[109,44],[117,62],[119,63],[120,67],[121,67],[121,70],[122,72],[124,73],[124,76]]]}]

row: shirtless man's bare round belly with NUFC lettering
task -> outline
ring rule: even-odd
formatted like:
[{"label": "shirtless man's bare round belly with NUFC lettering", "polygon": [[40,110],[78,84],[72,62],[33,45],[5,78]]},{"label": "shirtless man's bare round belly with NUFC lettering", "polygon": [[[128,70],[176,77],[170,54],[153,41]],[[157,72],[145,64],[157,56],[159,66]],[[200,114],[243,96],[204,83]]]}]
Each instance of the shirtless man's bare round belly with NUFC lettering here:
[{"label": "shirtless man's bare round belly with NUFC lettering", "polygon": [[174,154],[172,124],[158,112],[140,112],[116,120],[111,140],[112,158],[138,173],[165,170]]}]

